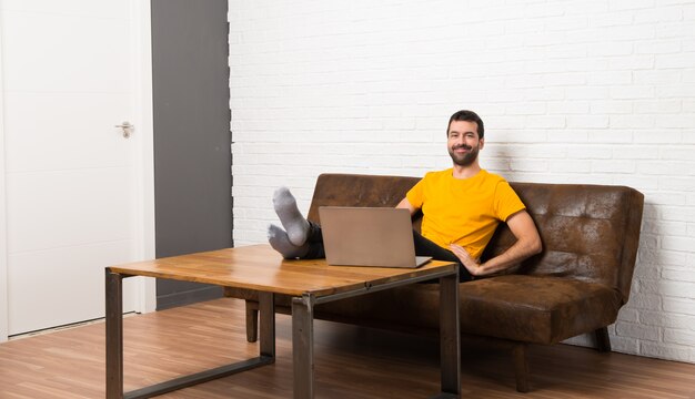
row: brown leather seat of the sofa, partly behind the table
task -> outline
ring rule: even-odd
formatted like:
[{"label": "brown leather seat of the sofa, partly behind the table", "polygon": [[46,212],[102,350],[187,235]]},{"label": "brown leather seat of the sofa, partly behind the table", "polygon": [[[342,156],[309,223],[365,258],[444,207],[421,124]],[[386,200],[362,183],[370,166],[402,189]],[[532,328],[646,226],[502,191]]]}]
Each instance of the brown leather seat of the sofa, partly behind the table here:
[{"label": "brown leather seat of the sofa, partly behind the table", "polygon": [[[461,331],[534,344],[556,344],[611,325],[621,294],[563,277],[505,275],[459,285]],[[235,293],[240,297],[241,293]],[[248,293],[245,299],[253,298]],[[275,296],[279,311],[291,298]],[[318,305],[315,317],[404,332],[439,330],[439,286],[415,284]]]}]

